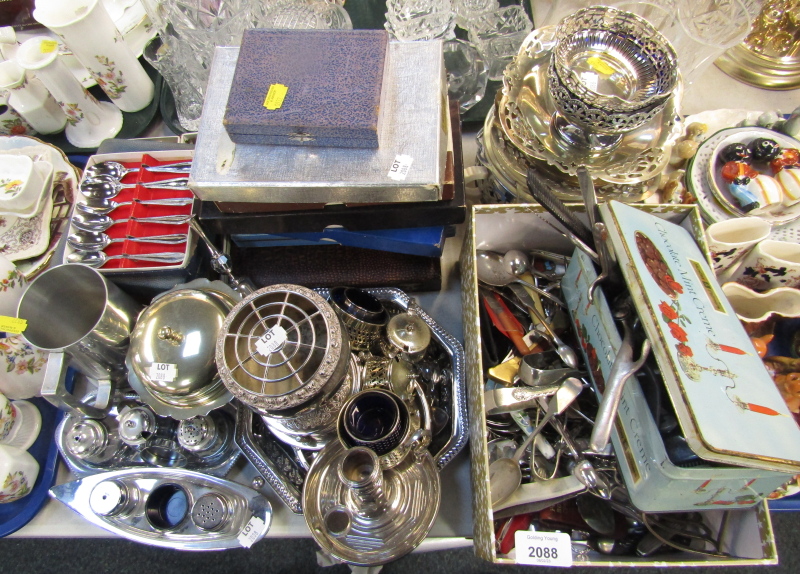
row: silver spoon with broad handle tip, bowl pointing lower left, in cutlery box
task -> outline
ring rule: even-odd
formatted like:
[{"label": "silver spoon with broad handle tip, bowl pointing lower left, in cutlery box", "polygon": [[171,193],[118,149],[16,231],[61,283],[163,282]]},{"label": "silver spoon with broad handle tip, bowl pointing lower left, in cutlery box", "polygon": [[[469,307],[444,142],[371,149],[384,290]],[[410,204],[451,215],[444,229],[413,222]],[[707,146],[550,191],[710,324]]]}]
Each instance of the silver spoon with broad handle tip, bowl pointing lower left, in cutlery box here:
[{"label": "silver spoon with broad handle tip, bowl pointing lower left, in cutlery box", "polygon": [[563,413],[582,390],[583,383],[574,377],[570,377],[561,383],[556,394],[547,403],[547,411],[544,418],[539,422],[539,426],[533,429],[533,432],[525,438],[525,441],[514,453],[514,456],[497,459],[489,465],[489,492],[493,507],[514,494],[522,483],[522,470],[519,467],[519,461],[525,451],[528,450],[533,439],[536,438],[536,435],[542,432],[542,429],[550,422],[550,419]]}]

